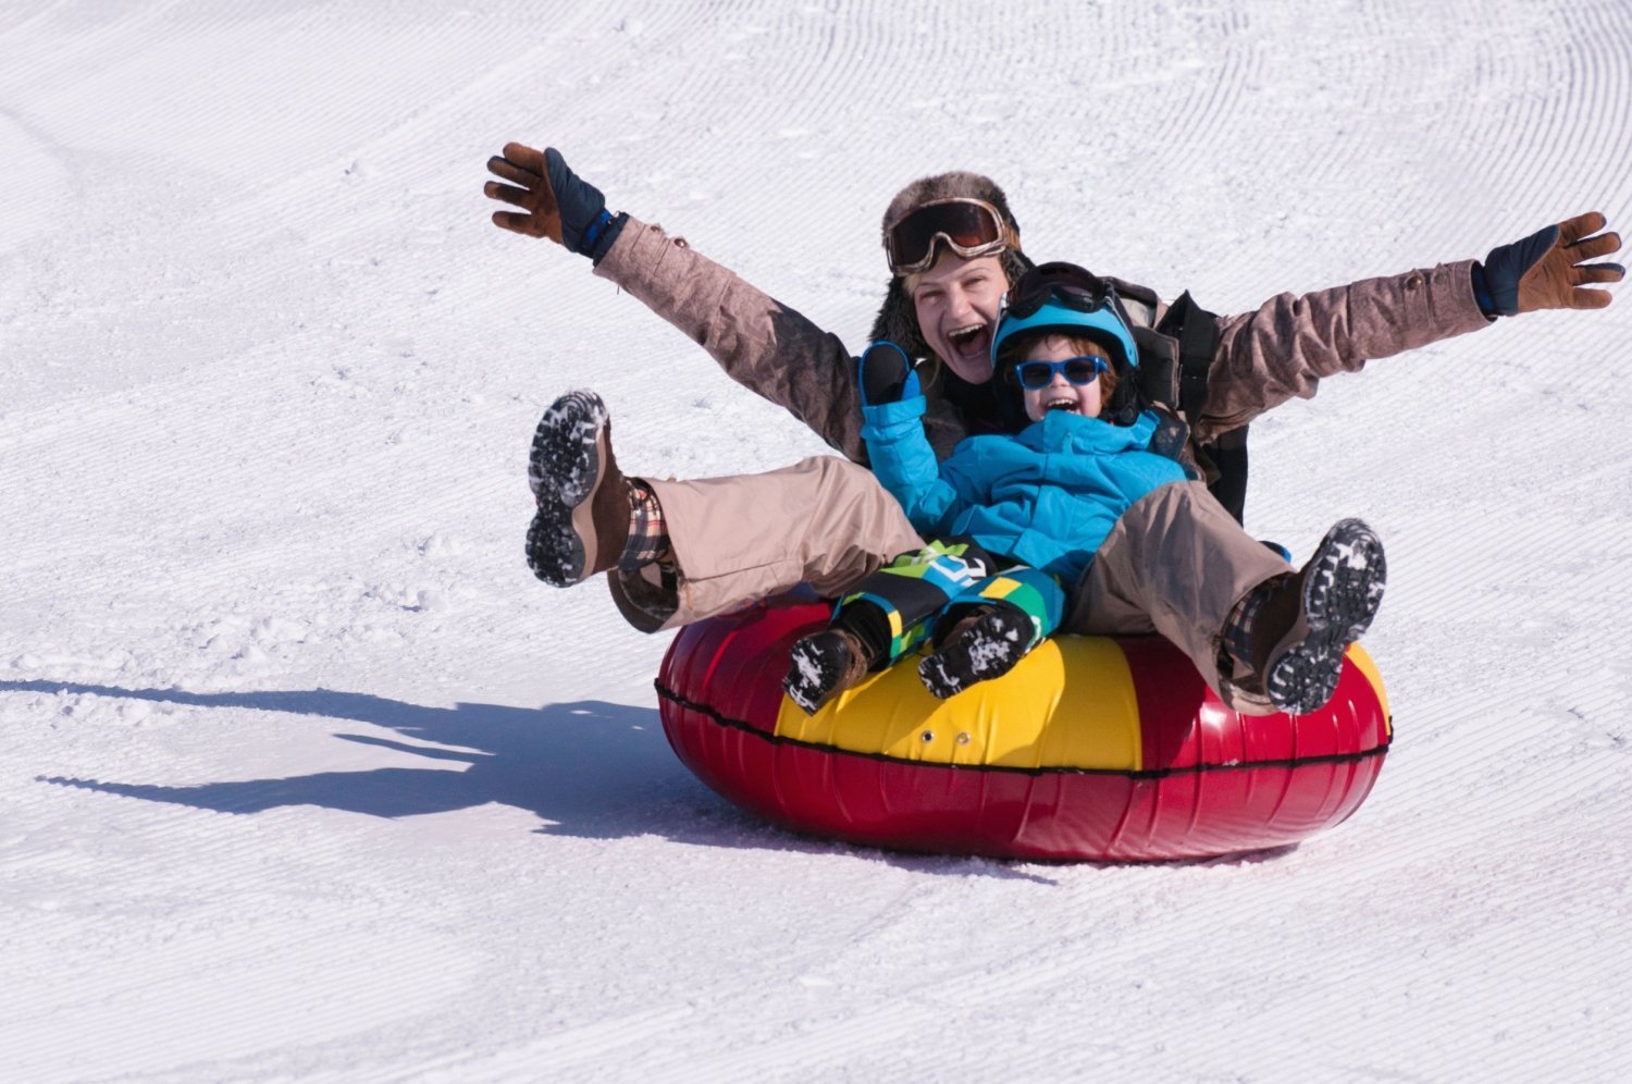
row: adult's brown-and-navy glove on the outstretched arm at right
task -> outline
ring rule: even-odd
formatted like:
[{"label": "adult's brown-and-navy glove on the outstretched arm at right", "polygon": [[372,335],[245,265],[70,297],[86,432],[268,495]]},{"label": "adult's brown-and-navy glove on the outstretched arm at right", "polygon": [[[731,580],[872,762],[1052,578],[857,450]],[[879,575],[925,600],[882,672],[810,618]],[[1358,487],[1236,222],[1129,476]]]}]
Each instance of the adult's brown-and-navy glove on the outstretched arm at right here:
[{"label": "adult's brown-and-navy glove on the outstretched arm at right", "polygon": [[1619,263],[1586,263],[1621,248],[1621,235],[1598,233],[1601,229],[1604,215],[1591,211],[1492,248],[1483,268],[1474,264],[1479,307],[1488,317],[1537,309],[1603,309],[1611,295],[1585,289],[1585,284],[1619,282],[1627,271]]}]

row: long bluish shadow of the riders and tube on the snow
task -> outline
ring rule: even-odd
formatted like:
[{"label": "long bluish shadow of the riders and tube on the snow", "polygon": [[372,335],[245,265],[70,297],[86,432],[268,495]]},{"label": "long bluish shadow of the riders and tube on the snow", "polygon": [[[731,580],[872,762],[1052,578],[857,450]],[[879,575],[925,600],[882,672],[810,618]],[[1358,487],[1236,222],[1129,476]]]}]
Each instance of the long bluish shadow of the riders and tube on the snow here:
[{"label": "long bluish shadow of the riders and tube on the snow", "polygon": [[539,829],[545,834],[589,839],[663,836],[702,846],[855,852],[863,857],[883,857],[924,873],[984,872],[992,877],[1048,880],[1005,862],[881,852],[796,836],[770,826],[730,805],[687,772],[669,749],[663,736],[663,722],[653,709],[602,700],[550,704],[540,709],[499,704],[457,704],[442,709],[333,689],[184,692],[57,681],[0,681],[0,692],[98,695],[353,720],[432,744],[408,744],[359,733],[335,736],[468,766],[465,771],[374,767],[191,787],[39,777],[41,782],[59,787],[217,813],[261,813],[279,806],[312,805],[400,818],[499,803],[527,810],[548,821],[548,826]]}]

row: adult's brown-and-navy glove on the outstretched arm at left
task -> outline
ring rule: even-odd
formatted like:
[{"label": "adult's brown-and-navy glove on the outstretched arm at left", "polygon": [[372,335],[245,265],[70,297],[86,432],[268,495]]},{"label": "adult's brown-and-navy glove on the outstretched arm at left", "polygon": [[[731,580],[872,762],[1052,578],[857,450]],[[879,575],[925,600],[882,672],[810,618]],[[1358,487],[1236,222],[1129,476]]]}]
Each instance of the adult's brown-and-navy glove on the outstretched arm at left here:
[{"label": "adult's brown-and-navy glove on the outstretched arm at left", "polygon": [[488,181],[481,189],[488,199],[524,209],[494,211],[493,225],[548,237],[566,251],[597,263],[628,220],[627,214],[610,215],[601,189],[573,173],[555,147],[540,153],[524,144],[504,144],[503,157],[488,158],[488,171],[509,181]]}]

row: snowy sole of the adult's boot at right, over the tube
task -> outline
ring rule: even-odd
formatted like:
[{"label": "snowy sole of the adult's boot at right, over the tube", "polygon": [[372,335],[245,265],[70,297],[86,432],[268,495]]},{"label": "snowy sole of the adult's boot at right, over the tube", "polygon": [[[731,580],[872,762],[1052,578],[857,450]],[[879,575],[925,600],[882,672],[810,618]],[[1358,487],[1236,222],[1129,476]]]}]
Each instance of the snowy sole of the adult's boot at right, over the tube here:
[{"label": "snowy sole of the adult's boot at right, over the tube", "polygon": [[1288,635],[1293,643],[1270,663],[1270,704],[1288,715],[1325,707],[1343,674],[1343,653],[1382,606],[1387,576],[1382,540],[1364,522],[1345,519],[1327,532],[1304,583],[1302,619]]}]

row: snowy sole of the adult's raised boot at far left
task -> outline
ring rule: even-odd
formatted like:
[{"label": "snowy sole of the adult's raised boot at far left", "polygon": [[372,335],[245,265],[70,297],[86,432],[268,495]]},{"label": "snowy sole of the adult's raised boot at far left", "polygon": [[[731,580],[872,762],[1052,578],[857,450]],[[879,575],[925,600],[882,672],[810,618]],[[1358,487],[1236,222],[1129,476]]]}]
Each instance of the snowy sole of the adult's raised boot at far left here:
[{"label": "snowy sole of the adult's raised boot at far left", "polygon": [[583,581],[594,552],[591,514],[605,472],[607,408],[594,392],[550,403],[532,434],[527,483],[539,500],[527,527],[527,568],[557,588]]}]

